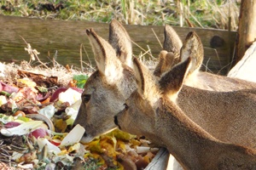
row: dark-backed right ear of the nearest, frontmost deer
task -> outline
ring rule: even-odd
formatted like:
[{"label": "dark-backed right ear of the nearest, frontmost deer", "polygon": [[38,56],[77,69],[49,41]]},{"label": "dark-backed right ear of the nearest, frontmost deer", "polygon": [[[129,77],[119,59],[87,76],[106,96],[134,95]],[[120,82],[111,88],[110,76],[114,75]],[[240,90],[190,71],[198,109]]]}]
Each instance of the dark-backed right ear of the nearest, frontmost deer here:
[{"label": "dark-backed right ear of the nearest, frontmost deer", "polygon": [[178,65],[175,65],[172,70],[166,72],[160,78],[160,90],[163,94],[169,96],[170,99],[175,100],[177,94],[183,86],[183,80],[187,75],[190,66],[190,57]]}]

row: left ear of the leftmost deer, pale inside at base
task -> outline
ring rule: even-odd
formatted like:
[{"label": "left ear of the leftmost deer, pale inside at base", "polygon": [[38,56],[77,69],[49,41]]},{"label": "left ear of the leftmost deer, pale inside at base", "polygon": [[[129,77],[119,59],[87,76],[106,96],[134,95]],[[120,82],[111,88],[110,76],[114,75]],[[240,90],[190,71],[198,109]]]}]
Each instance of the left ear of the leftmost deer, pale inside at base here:
[{"label": "left ear of the leftmost deer, pale inside at base", "polygon": [[119,59],[116,58],[112,46],[99,37],[93,29],[86,30],[86,34],[90,40],[98,70],[107,78],[108,82],[118,79],[123,72],[123,67]]}]

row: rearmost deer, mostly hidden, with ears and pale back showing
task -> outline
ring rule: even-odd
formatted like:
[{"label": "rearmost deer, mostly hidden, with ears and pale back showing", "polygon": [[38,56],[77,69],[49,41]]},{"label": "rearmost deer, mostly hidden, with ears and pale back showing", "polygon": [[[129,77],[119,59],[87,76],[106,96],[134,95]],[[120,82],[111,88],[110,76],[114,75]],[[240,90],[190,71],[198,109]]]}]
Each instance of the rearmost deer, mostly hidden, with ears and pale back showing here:
[{"label": "rearmost deer, mostly hidden, with ears and pale back showing", "polygon": [[[159,63],[154,70],[155,76],[160,77],[163,72],[168,71],[173,65],[176,65],[179,61],[183,61],[183,59],[186,59],[189,55],[192,59],[192,65],[184,84],[190,87],[223,92],[256,87],[256,83],[254,82],[199,71],[204,56],[200,37],[198,37],[194,31],[189,32],[183,46],[182,44],[181,46],[174,46],[173,44],[180,44],[179,42],[181,42],[181,40],[177,36],[176,31],[171,28],[171,26],[165,27],[164,48],[160,52]],[[168,41],[166,41],[166,39]],[[176,50],[173,50],[173,48]],[[177,48],[180,48],[180,53],[177,52]]]}]

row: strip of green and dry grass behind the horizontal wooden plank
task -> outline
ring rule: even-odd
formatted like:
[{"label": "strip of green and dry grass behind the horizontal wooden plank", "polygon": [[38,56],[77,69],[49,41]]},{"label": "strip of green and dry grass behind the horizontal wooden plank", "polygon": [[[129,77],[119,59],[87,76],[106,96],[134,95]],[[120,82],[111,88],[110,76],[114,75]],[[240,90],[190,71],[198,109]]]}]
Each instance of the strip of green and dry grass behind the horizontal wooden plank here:
[{"label": "strip of green and dry grass behind the horizontal wooden plank", "polygon": [[[230,2],[230,3],[228,3]],[[0,0],[0,14],[56,20],[237,29],[240,4],[220,0]],[[229,10],[230,8],[230,10]]]}]

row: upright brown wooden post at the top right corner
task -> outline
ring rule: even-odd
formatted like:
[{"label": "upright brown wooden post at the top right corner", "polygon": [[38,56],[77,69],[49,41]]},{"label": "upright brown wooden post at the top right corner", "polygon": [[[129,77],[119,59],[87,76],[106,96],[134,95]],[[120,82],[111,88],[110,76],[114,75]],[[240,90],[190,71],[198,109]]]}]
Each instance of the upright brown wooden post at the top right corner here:
[{"label": "upright brown wooden post at the top right corner", "polygon": [[256,40],[256,0],[241,0],[238,38],[236,40],[236,64],[247,48]]}]

